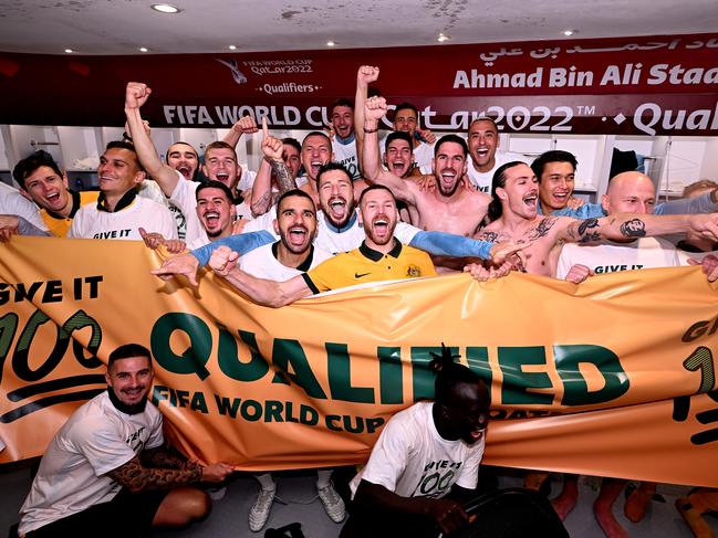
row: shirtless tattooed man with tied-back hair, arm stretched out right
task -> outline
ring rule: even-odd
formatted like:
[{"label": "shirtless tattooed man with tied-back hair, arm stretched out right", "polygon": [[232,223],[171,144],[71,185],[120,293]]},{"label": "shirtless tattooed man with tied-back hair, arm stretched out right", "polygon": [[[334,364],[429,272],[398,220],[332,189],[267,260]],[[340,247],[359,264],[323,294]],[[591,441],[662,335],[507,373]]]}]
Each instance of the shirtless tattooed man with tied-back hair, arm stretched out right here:
[{"label": "shirtless tattooed man with tied-back hair, arm stretched out right", "polygon": [[524,249],[528,273],[555,274],[564,243],[626,240],[670,233],[695,232],[718,239],[718,215],[651,215],[618,213],[602,219],[575,220],[566,217],[543,217],[537,213],[539,183],[528,165],[520,161],[500,167],[491,189],[489,207],[491,223],[477,239],[533,243]]}]

